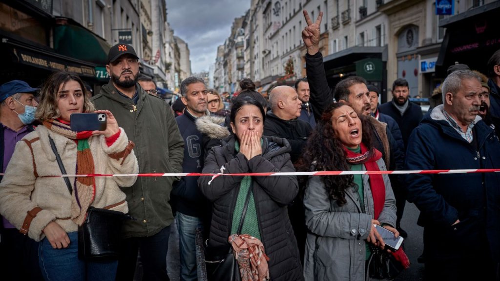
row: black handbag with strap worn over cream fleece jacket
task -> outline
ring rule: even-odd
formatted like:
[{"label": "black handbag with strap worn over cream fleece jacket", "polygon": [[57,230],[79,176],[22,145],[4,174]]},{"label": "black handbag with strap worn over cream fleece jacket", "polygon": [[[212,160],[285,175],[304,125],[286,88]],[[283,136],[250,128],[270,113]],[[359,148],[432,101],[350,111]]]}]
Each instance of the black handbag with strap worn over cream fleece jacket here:
[{"label": "black handbag with strap worn over cream fleece jacket", "polygon": [[[54,141],[48,136],[50,147],[62,174],[66,169],[57,153]],[[73,193],[69,179],[64,176],[69,193]],[[78,225],[78,258],[88,261],[108,261],[118,258],[121,238],[121,225],[125,218],[130,218],[120,211],[95,208],[90,206],[85,221]]]}]

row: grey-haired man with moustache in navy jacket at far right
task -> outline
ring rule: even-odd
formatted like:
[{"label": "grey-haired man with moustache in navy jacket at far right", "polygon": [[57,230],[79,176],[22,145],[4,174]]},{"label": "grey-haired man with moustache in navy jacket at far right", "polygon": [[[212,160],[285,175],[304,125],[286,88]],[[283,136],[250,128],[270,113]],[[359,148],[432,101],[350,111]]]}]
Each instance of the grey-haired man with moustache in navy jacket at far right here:
[{"label": "grey-haired man with moustache in navy jacket at far right", "polygon": [[[443,104],[413,130],[406,170],[500,167],[500,142],[477,116],[482,87],[470,70],[442,83]],[[495,278],[500,260],[500,174],[415,173],[405,177],[407,199],[420,210],[425,275],[431,280]]]}]

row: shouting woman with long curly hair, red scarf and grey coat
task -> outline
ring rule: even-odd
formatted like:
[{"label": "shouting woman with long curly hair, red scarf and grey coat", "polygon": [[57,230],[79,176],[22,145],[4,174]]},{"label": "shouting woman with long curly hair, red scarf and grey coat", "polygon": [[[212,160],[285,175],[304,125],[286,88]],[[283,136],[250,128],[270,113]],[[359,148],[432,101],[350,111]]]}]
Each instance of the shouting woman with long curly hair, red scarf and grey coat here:
[{"label": "shouting woman with long curly hair, red scarf and grey coat", "polygon": [[[301,170],[385,170],[369,126],[345,103],[331,104],[309,137]],[[368,244],[384,248],[375,225],[395,236],[386,174],[310,176],[304,193],[306,280],[365,280]]]}]

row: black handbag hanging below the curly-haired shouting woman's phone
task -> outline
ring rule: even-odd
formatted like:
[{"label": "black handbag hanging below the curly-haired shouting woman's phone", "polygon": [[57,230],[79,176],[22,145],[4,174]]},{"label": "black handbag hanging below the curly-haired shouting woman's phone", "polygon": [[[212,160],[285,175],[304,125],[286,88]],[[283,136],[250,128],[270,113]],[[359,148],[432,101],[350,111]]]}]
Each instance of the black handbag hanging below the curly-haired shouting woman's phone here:
[{"label": "black handbag hanging below the curly-haired shouting woman's phone", "polygon": [[371,278],[376,279],[394,279],[401,271],[404,270],[401,262],[395,257],[374,245],[369,245],[371,255],[368,259],[368,273]]}]

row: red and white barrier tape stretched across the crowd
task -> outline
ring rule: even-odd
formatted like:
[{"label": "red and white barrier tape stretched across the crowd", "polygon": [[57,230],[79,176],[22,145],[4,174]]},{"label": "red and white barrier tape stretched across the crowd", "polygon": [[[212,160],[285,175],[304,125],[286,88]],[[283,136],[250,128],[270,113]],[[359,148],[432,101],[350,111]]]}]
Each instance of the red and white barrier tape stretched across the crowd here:
[{"label": "red and white barrier tape stretched across the crowd", "polygon": [[[197,173],[197,172],[178,172],[178,173],[129,173],[129,174],[63,174],[52,177],[83,177],[83,176],[218,176],[218,175],[236,175],[236,176],[279,176],[279,175],[339,175],[339,174],[410,174],[410,173],[476,173],[476,172],[500,172],[500,168],[494,169],[441,169],[441,170],[381,170],[381,171],[296,171],[296,172],[249,172],[249,173]],[[3,175],[3,173],[0,173]]]}]

